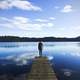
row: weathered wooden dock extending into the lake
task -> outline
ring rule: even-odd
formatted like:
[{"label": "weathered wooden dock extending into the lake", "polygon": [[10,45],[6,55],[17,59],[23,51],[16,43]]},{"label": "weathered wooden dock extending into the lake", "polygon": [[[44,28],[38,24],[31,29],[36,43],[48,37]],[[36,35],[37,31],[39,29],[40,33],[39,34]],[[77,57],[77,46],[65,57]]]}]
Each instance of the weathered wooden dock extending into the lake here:
[{"label": "weathered wooden dock extending into the lake", "polygon": [[57,78],[48,59],[37,57],[32,64],[27,80],[57,80]]}]

